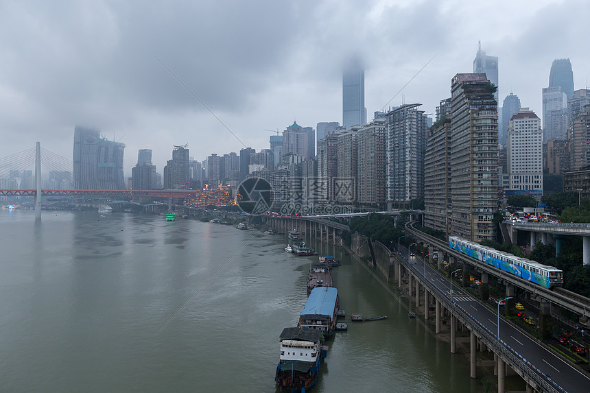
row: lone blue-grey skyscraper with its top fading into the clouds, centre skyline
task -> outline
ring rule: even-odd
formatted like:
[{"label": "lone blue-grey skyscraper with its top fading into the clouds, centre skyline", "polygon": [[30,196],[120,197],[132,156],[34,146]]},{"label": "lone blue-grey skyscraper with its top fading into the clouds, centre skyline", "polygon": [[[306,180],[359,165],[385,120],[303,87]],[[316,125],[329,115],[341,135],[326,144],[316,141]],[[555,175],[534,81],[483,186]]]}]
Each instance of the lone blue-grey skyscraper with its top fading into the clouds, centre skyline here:
[{"label": "lone blue-grey skyscraper with its top fading into the clouds, centre skyline", "polygon": [[344,67],[342,73],[342,126],[363,126],[367,121],[365,108],[365,72],[358,60]]}]

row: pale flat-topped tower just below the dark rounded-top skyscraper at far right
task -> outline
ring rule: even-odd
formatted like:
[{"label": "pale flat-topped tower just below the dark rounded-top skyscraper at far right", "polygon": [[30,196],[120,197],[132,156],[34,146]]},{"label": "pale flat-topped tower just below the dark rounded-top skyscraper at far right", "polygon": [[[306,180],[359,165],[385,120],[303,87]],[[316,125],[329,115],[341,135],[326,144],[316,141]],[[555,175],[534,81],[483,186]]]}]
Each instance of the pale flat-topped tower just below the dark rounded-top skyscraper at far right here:
[{"label": "pale flat-topped tower just below the dark rounded-top skyscraper at far right", "polygon": [[543,142],[565,139],[567,134],[567,95],[560,86],[543,88]]}]

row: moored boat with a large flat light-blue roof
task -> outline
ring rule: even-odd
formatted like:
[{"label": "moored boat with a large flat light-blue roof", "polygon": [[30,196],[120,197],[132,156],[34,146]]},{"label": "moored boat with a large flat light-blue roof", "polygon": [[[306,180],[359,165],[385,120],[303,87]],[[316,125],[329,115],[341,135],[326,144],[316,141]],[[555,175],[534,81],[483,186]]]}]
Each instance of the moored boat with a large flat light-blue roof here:
[{"label": "moored boat with a large flat light-blue roof", "polygon": [[316,287],[311,289],[309,298],[299,315],[301,327],[309,327],[322,332],[324,337],[333,335],[338,318],[338,289]]}]

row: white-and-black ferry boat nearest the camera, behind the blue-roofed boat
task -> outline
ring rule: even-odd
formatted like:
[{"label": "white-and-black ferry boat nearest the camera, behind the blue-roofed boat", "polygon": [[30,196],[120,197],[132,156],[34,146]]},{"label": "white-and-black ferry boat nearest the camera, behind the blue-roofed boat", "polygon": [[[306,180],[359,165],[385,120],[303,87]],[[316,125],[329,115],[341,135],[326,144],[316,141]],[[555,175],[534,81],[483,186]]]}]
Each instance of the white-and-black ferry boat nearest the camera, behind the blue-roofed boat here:
[{"label": "white-and-black ferry boat nearest the camera, behind the blue-roofed boat", "polygon": [[274,381],[279,390],[306,392],[318,382],[322,361],[327,355],[320,331],[291,327],[281,333],[281,357]]}]

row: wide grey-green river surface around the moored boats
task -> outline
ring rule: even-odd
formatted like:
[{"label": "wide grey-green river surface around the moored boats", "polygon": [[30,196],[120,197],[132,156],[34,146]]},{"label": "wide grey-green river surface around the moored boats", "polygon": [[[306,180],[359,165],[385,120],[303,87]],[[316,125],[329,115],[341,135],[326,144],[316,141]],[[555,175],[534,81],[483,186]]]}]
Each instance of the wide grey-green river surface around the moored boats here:
[{"label": "wide grey-green river surface around the moored boats", "polygon": [[[313,392],[479,392],[362,263],[333,280],[349,323]],[[275,392],[279,334],[307,300],[286,237],[130,213],[0,211],[0,391]]]}]

